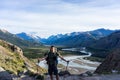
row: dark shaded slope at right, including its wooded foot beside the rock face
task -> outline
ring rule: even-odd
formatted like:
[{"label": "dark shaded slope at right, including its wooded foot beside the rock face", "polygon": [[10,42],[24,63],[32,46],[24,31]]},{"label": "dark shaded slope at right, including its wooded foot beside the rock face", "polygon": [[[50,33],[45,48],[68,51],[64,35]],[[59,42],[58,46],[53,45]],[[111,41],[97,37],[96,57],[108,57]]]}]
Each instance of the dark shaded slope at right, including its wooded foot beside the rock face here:
[{"label": "dark shaded slope at right, including its wooded foot beside the rock face", "polygon": [[109,36],[97,40],[89,46],[89,50],[93,51],[92,56],[105,58],[112,49],[120,48],[120,31],[116,31]]}]

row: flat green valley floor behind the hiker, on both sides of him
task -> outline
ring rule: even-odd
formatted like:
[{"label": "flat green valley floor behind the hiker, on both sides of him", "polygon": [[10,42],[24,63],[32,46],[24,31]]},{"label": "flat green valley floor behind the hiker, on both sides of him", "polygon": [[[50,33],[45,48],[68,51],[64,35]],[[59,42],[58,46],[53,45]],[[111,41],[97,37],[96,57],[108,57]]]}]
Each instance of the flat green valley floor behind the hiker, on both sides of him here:
[{"label": "flat green valley floor behind the hiker, on both sides of him", "polygon": [[[29,59],[37,59],[41,58],[44,56],[45,53],[49,52],[49,47],[36,47],[36,48],[24,48],[23,49],[23,54],[25,57]],[[83,55],[81,52],[72,52],[72,51],[62,51],[61,49],[58,48],[58,53],[60,53],[62,56],[67,56],[67,55]]]}]

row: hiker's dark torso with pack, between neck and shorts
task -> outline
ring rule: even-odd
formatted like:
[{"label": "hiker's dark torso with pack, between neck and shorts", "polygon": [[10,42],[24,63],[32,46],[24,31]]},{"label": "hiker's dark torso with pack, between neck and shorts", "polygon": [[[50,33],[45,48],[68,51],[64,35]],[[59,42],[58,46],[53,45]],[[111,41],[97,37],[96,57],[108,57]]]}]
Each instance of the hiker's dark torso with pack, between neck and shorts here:
[{"label": "hiker's dark torso with pack, between neck and shorts", "polygon": [[47,61],[47,64],[48,65],[57,65],[58,64],[58,53],[51,53],[49,52],[47,54],[47,58],[46,58],[46,61]]}]

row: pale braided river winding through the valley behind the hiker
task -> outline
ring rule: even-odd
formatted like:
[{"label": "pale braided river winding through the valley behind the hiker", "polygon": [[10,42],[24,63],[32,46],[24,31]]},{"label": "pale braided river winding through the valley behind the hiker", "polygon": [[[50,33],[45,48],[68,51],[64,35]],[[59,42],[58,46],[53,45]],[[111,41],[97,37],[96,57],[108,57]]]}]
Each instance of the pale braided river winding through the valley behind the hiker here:
[{"label": "pale braided river winding through the valley behind the hiker", "polygon": [[[78,51],[76,48],[69,48],[69,49],[62,49],[64,51]],[[71,73],[83,73],[85,71],[94,71],[98,66],[99,62],[93,62],[90,60],[85,60],[84,57],[90,57],[91,52],[87,52],[85,48],[79,50],[81,53],[84,53],[85,55],[75,55],[75,56],[65,56],[64,58],[66,60],[69,60],[68,70]],[[87,54],[87,55],[86,55]],[[65,61],[62,61],[60,58],[58,59],[59,64],[66,66],[67,63]],[[47,69],[46,61],[41,61],[39,63],[39,66],[44,67]],[[62,70],[63,68],[59,68],[59,70]]]}]

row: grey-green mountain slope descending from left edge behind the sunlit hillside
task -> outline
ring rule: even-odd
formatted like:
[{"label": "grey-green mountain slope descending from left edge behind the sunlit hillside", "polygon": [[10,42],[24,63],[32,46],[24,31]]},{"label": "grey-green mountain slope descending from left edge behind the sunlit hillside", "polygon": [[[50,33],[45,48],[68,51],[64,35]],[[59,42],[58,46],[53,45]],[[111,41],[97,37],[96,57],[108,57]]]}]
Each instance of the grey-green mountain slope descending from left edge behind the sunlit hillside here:
[{"label": "grey-green mountain slope descending from left edge behind the sunlit hillside", "polygon": [[17,37],[16,35],[11,34],[6,30],[1,30],[1,29],[0,29],[0,39],[8,41],[10,43],[13,43],[17,46],[27,46],[28,47],[28,46],[40,46],[41,45],[41,43],[23,40],[23,39]]}]

